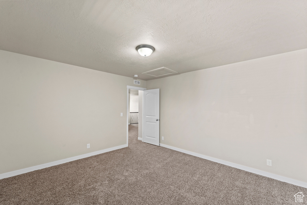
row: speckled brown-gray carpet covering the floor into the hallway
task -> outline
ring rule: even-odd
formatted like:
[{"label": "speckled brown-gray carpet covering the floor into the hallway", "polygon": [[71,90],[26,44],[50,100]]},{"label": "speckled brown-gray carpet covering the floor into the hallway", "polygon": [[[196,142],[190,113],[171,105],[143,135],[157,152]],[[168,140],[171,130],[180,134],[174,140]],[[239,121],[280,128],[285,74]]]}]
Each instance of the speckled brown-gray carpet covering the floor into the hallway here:
[{"label": "speckled brown-gray carpet covering the floor into the hallway", "polygon": [[[138,140],[0,180],[0,204],[297,204],[307,189]],[[306,204],[307,197],[304,199]]]}]

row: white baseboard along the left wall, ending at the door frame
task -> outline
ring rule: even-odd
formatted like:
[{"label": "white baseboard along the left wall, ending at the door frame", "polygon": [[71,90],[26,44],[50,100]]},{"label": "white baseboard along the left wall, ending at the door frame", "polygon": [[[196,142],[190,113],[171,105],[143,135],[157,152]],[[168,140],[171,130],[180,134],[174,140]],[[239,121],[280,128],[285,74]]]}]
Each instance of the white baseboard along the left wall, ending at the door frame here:
[{"label": "white baseboard along the left wall, ending at the door frame", "polygon": [[55,165],[58,165],[58,164],[64,164],[66,162],[80,160],[80,159],[83,159],[83,158],[86,158],[86,157],[99,155],[99,154],[102,154],[102,153],[105,153],[105,152],[110,152],[110,151],[125,148],[125,147],[128,147],[128,144],[123,144],[123,145],[120,145],[120,146],[117,146],[117,147],[111,147],[111,148],[99,150],[99,151],[96,151],[96,152],[87,153],[87,154],[84,154],[84,155],[74,156],[74,157],[70,157],[70,158],[67,158],[67,159],[64,159],[64,160],[49,162],[49,163],[37,165],[37,166],[34,166],[34,167],[29,167],[29,168],[25,168],[25,169],[7,172],[7,173],[4,173],[4,174],[0,174],[0,179],[24,174],[24,173],[27,173],[27,172],[30,172],[30,171],[35,171],[35,170],[38,170],[38,169],[44,169],[44,168],[47,168],[47,167],[52,167],[52,166],[55,166]]}]

